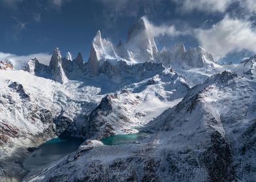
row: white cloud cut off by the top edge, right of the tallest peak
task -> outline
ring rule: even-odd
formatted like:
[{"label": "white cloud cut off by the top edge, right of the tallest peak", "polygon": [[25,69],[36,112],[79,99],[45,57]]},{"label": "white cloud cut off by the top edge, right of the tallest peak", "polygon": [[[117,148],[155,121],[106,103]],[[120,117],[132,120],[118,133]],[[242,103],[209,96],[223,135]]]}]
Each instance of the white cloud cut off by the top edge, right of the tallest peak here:
[{"label": "white cloud cut off by the top edge, right of the tallest peak", "polygon": [[227,7],[234,1],[232,0],[172,0],[180,6],[180,10],[190,12],[201,10],[204,12],[225,12]]}]

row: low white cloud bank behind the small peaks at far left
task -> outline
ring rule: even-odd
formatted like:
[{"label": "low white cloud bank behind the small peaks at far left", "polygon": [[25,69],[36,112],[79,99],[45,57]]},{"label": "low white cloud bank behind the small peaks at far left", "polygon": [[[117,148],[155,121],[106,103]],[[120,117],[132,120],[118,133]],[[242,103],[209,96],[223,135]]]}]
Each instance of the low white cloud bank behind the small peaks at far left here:
[{"label": "low white cloud bank behind the small peaks at far left", "polygon": [[12,64],[14,65],[14,68],[20,69],[24,68],[25,64],[29,59],[37,58],[39,62],[42,64],[48,65],[50,62],[52,55],[49,55],[48,53],[36,53],[31,55],[13,55],[10,53],[1,53],[0,52],[0,60],[10,60]]}]

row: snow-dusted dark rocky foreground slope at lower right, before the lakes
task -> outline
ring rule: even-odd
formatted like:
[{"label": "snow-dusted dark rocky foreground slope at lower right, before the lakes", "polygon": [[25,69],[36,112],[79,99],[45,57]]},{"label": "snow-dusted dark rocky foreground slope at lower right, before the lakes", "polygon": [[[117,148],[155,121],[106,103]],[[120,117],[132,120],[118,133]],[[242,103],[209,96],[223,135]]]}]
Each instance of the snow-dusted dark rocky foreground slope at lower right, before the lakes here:
[{"label": "snow-dusted dark rocky foreground slope at lower right, before the lakes", "polygon": [[256,83],[223,72],[144,129],[140,144],[81,146],[24,181],[253,181]]}]

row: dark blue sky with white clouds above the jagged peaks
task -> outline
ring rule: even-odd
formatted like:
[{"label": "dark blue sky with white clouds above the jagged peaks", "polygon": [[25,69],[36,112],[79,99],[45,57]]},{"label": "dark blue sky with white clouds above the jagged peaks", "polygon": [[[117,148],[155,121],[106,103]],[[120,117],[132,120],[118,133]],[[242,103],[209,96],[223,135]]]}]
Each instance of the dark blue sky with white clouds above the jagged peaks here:
[{"label": "dark blue sky with white clouds above the jagged peaks", "polygon": [[87,60],[98,30],[118,44],[146,16],[159,49],[182,41],[186,48],[204,47],[218,61],[239,62],[256,52],[253,1],[0,0],[0,57],[40,53],[48,59],[59,47],[63,56],[80,51]]}]

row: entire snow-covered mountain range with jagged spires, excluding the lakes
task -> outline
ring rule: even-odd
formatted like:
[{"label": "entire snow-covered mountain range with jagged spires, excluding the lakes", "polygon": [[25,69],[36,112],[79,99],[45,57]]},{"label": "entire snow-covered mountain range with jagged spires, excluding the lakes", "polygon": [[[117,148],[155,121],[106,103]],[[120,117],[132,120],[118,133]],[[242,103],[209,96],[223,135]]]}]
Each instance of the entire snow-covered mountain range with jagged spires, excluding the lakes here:
[{"label": "entire snow-covered mountain range with jagged spires, excluding the lakes", "polygon": [[[87,62],[59,48],[48,66],[2,60],[0,181],[253,181],[255,60],[220,65],[182,42],[158,51],[144,18],[116,46],[98,31]],[[138,130],[152,135],[99,141]],[[55,136],[87,141],[27,174],[30,149]]]}]

